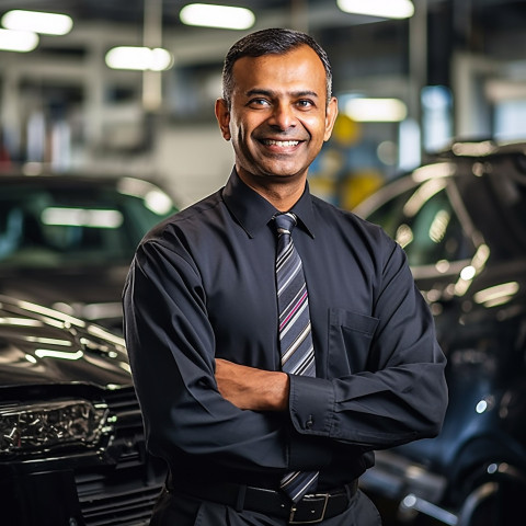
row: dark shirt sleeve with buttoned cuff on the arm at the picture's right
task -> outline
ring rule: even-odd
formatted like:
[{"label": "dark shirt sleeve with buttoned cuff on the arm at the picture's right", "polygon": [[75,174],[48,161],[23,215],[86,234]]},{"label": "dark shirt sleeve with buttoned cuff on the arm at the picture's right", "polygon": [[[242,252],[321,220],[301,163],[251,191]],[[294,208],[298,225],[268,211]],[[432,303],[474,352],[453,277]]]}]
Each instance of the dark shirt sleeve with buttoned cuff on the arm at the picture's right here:
[{"label": "dark shirt sleeve with buttoned cuff on the arm at the picture's right", "polygon": [[[298,436],[370,450],[433,437],[442,427],[446,358],[434,320],[403,250],[385,241],[378,258],[382,265],[369,318],[377,324],[367,363],[343,377],[290,378],[290,420]],[[339,352],[353,353],[342,345]]]}]

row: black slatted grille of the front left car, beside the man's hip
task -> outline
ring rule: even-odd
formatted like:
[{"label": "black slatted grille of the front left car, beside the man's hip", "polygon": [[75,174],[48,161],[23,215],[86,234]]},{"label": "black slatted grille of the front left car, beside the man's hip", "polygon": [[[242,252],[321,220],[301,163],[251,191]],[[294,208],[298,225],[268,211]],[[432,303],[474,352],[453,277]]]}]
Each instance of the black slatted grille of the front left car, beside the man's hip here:
[{"label": "black slatted grille of the front left car, beside the man's hip", "polygon": [[116,464],[76,472],[77,493],[87,526],[148,524],[164,480],[162,469],[145,451],[142,421],[133,389],[104,396],[116,415],[115,437],[107,456]]}]

